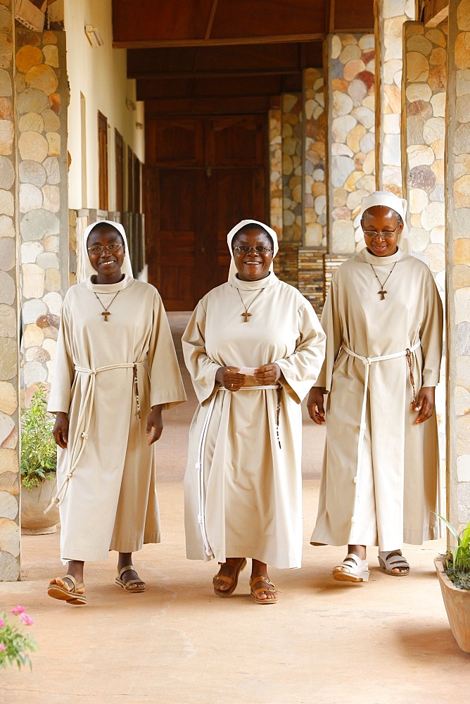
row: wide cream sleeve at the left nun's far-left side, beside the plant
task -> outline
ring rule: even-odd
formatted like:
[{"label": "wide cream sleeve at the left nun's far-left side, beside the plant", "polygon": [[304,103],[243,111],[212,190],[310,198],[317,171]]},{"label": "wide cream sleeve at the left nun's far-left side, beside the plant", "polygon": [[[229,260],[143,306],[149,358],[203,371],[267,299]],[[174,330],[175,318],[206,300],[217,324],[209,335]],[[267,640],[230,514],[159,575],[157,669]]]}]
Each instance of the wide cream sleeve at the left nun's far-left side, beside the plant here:
[{"label": "wide cream sleeve at the left nun's far-left side, beside the plant", "polygon": [[59,324],[56,354],[49,394],[47,410],[49,413],[68,413],[70,409],[71,391],[75,367],[72,360],[72,346],[70,344],[70,307],[69,298],[65,296],[61,308],[61,322]]}]

